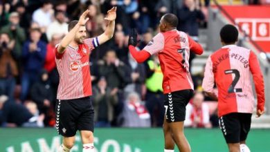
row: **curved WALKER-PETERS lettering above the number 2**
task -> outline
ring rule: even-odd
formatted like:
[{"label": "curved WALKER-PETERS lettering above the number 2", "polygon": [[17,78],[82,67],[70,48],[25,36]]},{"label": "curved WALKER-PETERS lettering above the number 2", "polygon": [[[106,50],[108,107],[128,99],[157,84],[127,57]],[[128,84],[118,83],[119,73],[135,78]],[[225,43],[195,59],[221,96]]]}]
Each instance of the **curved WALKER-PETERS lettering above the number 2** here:
[{"label": "curved WALKER-PETERS lettering above the number 2", "polygon": [[213,73],[217,72],[217,66],[219,66],[222,61],[225,59],[228,59],[228,57],[231,57],[231,59],[237,59],[240,61],[242,64],[244,64],[244,68],[249,67],[249,61],[245,59],[242,55],[238,55],[237,53],[232,53],[231,55],[224,54],[219,56],[214,62],[213,62]]}]

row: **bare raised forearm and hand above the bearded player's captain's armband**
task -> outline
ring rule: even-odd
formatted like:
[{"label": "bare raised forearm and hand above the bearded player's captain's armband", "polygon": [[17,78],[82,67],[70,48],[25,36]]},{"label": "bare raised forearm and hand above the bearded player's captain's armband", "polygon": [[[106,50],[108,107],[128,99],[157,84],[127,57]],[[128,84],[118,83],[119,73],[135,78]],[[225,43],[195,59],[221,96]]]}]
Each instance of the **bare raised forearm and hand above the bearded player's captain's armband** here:
[{"label": "bare raised forearm and hand above the bearded player's captain's armband", "polygon": [[102,35],[98,36],[98,43],[104,44],[106,41],[111,39],[111,37],[114,36],[114,28],[115,28],[115,20],[116,20],[116,7],[111,8],[111,10],[108,10],[107,15],[105,17],[105,20],[109,21],[108,26],[105,30],[105,32],[102,33]]}]

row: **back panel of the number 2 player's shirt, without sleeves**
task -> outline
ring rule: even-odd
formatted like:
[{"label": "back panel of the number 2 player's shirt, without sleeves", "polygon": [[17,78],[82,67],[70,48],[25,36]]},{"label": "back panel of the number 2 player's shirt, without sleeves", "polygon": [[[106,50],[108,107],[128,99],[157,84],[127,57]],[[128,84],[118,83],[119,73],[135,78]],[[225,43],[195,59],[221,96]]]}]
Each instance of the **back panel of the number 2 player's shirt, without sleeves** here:
[{"label": "back panel of the number 2 player's shirt, without sleeves", "polygon": [[229,45],[210,55],[218,88],[219,116],[227,113],[252,113],[254,97],[249,56],[251,50]]}]

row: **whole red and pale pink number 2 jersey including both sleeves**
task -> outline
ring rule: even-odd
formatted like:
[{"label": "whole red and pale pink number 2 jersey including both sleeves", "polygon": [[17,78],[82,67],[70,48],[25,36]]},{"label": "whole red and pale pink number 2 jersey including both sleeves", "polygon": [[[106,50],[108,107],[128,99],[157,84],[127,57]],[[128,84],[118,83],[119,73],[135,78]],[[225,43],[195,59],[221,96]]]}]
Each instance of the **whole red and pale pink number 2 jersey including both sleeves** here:
[{"label": "whole red and pale pink number 2 jersey including both sleeves", "polygon": [[254,97],[251,74],[258,97],[258,109],[264,109],[264,80],[256,55],[246,48],[224,46],[208,57],[202,87],[213,93],[218,90],[218,115],[252,113]]}]

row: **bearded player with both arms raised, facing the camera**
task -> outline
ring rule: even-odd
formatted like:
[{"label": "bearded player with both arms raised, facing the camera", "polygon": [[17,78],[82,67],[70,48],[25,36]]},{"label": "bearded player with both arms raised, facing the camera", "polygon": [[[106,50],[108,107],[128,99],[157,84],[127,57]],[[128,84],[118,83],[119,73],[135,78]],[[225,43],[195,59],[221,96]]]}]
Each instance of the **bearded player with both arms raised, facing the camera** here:
[{"label": "bearded player with both arms raised, facing the camera", "polygon": [[76,131],[80,131],[83,152],[93,152],[93,106],[91,101],[91,75],[89,55],[91,50],[113,37],[116,7],[107,12],[109,23],[102,35],[87,38],[85,23],[89,10],[80,16],[79,21],[69,23],[69,33],[55,48],[55,60],[60,75],[57,91],[56,129],[63,136],[59,151],[70,151]]}]

